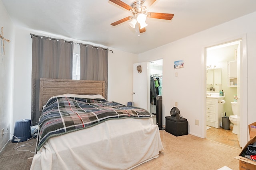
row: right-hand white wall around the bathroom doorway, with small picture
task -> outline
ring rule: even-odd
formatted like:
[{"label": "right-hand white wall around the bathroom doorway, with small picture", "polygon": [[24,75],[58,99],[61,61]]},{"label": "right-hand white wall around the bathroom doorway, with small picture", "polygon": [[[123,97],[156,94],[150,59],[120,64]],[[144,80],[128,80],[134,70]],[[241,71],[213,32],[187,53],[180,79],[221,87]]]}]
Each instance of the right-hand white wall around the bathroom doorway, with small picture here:
[{"label": "right-hand white wall around the bathroom doorway, with small picture", "polygon": [[[181,115],[188,119],[189,133],[204,137],[205,72],[203,70],[206,64],[202,51],[210,45],[217,45],[247,35],[247,42],[244,43],[247,43],[248,87],[245,87],[245,90],[248,89],[250,96],[248,96],[248,119],[244,120],[243,128],[244,132],[248,133],[247,124],[256,121],[254,108],[256,103],[254,89],[256,84],[256,67],[254,66],[256,63],[256,24],[253,22],[255,18],[256,12],[139,55],[139,62],[163,58],[165,116],[170,114],[170,109],[175,102],[178,102]],[[182,59],[184,59],[184,68],[174,70],[174,61]],[[175,77],[175,72],[178,73],[177,77]],[[199,125],[195,125],[196,119],[199,120]],[[248,139],[247,133],[242,134],[246,140]]]}]

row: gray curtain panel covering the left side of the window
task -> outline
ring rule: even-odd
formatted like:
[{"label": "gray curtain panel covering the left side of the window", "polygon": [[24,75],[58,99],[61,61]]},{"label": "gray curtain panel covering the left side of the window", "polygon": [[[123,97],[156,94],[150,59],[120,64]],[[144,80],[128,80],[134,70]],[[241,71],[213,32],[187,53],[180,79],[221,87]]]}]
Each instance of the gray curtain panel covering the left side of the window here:
[{"label": "gray curtain panel covering the left side of the window", "polygon": [[30,34],[32,37],[32,126],[38,124],[40,78],[72,79],[73,42]]}]

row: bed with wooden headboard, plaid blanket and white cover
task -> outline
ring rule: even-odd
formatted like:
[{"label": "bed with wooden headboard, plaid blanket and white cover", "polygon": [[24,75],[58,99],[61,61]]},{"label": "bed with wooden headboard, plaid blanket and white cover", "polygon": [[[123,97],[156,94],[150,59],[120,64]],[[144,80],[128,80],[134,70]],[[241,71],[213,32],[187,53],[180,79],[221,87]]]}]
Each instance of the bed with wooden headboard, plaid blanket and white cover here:
[{"label": "bed with wooden headboard, plaid blanket and white cover", "polygon": [[164,150],[152,115],[108,102],[104,81],[41,79],[40,88],[44,108],[32,170],[132,169]]}]

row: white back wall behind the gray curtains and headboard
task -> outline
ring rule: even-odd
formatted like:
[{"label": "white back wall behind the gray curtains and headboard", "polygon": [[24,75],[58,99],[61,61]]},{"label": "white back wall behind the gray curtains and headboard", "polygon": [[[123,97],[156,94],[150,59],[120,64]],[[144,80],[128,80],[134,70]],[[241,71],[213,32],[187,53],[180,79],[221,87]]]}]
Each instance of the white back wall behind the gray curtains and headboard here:
[{"label": "white back wall behind the gray curtains and headboard", "polygon": [[[32,70],[32,39],[30,33],[36,35],[62,38],[76,43],[89,43],[54,35],[42,31],[16,27],[16,48],[14,62],[14,119],[31,119],[31,70]],[[104,47],[102,45],[97,45]],[[104,47],[108,48],[108,47]],[[132,100],[132,64],[137,55],[112,49],[108,56],[108,100],[127,104]]]}]

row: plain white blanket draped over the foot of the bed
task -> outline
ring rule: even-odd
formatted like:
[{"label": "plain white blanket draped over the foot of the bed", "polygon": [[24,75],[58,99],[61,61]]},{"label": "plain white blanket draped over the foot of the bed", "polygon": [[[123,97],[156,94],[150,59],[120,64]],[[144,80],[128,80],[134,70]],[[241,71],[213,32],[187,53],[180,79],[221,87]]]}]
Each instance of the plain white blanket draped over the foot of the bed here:
[{"label": "plain white blanket draped over the foot of the bed", "polygon": [[31,170],[131,169],[162,151],[152,118],[108,120],[52,137],[34,155]]}]

